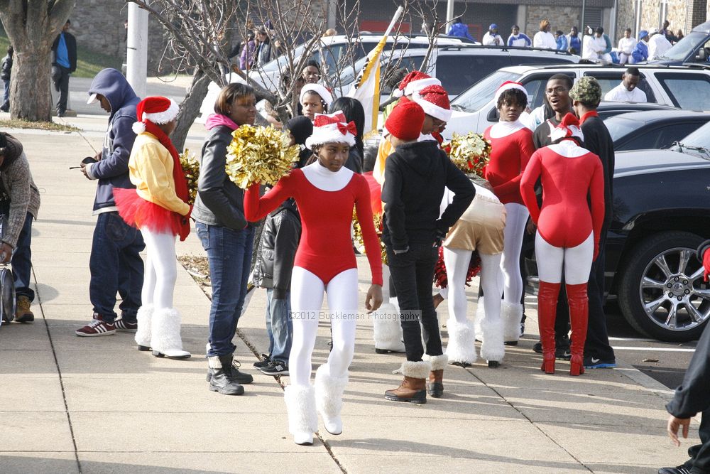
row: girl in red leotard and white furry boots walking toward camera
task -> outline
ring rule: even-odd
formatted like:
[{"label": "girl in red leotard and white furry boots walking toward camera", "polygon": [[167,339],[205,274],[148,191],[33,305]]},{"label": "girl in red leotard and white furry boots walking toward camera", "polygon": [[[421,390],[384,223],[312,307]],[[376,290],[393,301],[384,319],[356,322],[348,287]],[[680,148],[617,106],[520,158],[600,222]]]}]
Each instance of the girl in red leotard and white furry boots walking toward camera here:
[{"label": "girl in red leotard and white furry boots walking toward camera", "polygon": [[[306,146],[317,161],[293,170],[259,198],[258,183],[246,191],[244,214],[255,221],[294,198],[301,215],[302,235],[291,279],[293,343],[288,359],[291,384],[284,390],[289,429],[297,444],[312,444],[317,431],[316,410],[331,434],[342,432],[340,409],[355,350],[358,308],[357,264],[350,228],[353,207],[362,225],[372,285],[365,306],[376,310],[382,303],[382,257],[370,207],[370,190],[361,175],[343,164],[355,144],[355,126],[345,123],[342,112],[317,114]],[[315,390],[310,384],[311,355],[318,329],[318,313],[328,296],[333,350],[318,367]]]}]

